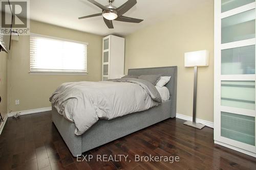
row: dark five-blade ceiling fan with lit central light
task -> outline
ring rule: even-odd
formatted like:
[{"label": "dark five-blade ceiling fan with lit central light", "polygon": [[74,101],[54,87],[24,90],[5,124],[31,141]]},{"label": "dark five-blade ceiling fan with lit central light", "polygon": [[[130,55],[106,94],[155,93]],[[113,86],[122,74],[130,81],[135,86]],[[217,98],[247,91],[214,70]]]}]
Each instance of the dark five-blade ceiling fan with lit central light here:
[{"label": "dark five-blade ceiling fan with lit central light", "polygon": [[114,0],[108,0],[109,5],[106,5],[106,6],[103,6],[94,0],[87,0],[87,1],[96,5],[100,9],[102,9],[102,12],[98,14],[82,16],[82,17],[79,17],[78,19],[84,19],[84,18],[90,18],[90,17],[102,15],[104,22],[109,29],[114,28],[112,20],[123,21],[123,22],[133,22],[133,23],[139,23],[143,21],[143,19],[130,18],[127,16],[123,16],[124,13],[129,11],[133,6],[135,6],[135,4],[137,4],[136,0],[128,0],[126,3],[124,3],[118,8],[112,5]]}]

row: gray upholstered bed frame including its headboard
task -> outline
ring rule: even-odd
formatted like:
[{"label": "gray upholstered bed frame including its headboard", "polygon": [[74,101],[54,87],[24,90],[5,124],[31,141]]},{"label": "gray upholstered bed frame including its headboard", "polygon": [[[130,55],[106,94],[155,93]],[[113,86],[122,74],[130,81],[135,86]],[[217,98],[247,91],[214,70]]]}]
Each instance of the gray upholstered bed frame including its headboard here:
[{"label": "gray upholstered bed frame including its headboard", "polygon": [[170,117],[176,116],[177,98],[177,66],[129,69],[128,75],[156,75],[172,76],[166,87],[170,92],[170,99],[151,109],[132,113],[112,120],[99,120],[83,135],[75,135],[75,124],[69,122],[52,107],[52,120],[63,140],[74,157],[102,144],[116,140],[125,135],[154,125]]}]

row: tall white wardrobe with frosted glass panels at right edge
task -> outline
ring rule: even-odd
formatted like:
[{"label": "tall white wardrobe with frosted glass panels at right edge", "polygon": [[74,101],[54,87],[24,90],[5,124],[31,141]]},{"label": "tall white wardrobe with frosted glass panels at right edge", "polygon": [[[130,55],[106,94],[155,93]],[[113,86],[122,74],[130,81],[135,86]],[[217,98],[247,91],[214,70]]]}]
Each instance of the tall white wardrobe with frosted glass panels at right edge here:
[{"label": "tall white wardrobe with frosted glass panels at right edge", "polygon": [[215,1],[215,142],[255,147],[255,0]]}]

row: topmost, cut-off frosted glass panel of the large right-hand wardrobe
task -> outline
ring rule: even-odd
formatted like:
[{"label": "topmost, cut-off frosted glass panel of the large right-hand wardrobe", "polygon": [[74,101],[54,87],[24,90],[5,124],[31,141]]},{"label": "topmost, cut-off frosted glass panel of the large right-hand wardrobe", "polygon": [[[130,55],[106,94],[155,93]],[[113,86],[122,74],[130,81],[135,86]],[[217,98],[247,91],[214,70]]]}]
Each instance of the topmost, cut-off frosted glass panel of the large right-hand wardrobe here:
[{"label": "topmost, cut-off frosted glass panel of the large right-hand wardrobe", "polygon": [[246,4],[255,2],[255,0],[222,0],[221,12],[226,12],[234,8],[242,7]]}]

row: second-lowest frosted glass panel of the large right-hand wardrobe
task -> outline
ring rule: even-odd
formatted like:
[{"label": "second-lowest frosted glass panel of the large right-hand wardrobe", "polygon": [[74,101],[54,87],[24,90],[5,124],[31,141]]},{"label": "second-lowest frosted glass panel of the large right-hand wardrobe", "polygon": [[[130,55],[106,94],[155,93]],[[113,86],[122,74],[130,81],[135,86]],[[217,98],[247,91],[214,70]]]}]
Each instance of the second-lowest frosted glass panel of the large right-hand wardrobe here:
[{"label": "second-lowest frosted glass panel of the large right-hand wardrobe", "polygon": [[221,105],[255,110],[255,81],[221,81]]}]

